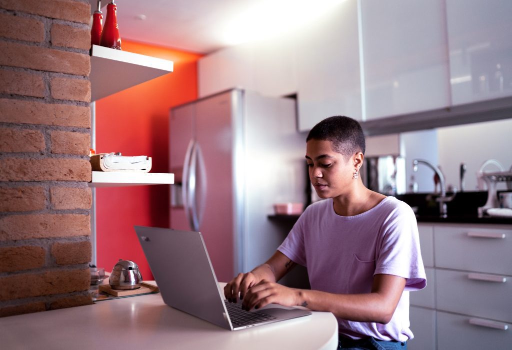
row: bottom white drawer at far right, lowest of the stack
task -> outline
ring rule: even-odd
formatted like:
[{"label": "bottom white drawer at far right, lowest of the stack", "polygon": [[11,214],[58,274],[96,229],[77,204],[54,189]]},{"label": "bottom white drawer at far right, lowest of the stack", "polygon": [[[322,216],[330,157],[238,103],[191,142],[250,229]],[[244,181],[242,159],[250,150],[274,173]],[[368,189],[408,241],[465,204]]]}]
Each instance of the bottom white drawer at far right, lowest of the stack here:
[{"label": "bottom white drawer at far right, lowest of the stack", "polygon": [[[499,330],[470,323],[471,317],[450,313],[437,313],[437,348],[439,350],[466,349],[510,349],[512,330]],[[477,323],[489,322],[485,319],[473,319]],[[493,323],[490,321],[489,323]],[[499,325],[498,322],[496,325]],[[503,325],[503,324],[502,324]]]}]

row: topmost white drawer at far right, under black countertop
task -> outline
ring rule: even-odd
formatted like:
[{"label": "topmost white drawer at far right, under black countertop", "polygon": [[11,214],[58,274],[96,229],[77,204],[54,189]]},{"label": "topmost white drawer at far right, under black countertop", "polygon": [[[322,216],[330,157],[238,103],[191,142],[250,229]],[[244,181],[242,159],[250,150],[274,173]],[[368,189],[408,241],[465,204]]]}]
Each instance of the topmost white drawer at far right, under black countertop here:
[{"label": "topmost white drawer at far right, under black countertop", "polygon": [[495,227],[435,226],[436,267],[512,275],[512,228]]}]

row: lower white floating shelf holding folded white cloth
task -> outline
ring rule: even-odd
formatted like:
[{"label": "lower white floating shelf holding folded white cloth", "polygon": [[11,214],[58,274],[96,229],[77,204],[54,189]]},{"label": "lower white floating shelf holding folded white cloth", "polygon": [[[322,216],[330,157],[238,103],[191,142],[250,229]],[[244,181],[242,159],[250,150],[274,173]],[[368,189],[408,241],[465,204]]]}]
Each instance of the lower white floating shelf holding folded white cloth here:
[{"label": "lower white floating shelf holding folded white cloth", "polygon": [[90,187],[121,187],[173,184],[174,174],[93,171]]}]

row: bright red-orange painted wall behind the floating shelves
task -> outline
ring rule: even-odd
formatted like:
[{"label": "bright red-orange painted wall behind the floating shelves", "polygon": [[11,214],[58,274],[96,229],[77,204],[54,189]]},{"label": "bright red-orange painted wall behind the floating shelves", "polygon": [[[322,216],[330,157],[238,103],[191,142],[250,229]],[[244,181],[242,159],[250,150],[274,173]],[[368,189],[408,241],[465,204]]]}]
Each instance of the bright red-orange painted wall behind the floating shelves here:
[{"label": "bright red-orange painted wall behind the floating shelves", "polygon": [[[197,99],[202,56],[127,40],[122,47],[174,61],[174,72],[96,102],[96,153],[151,156],[151,172],[167,173],[169,108]],[[97,265],[111,271],[132,260],[153,279],[133,226],[169,227],[169,185],[98,188],[96,196]]]}]

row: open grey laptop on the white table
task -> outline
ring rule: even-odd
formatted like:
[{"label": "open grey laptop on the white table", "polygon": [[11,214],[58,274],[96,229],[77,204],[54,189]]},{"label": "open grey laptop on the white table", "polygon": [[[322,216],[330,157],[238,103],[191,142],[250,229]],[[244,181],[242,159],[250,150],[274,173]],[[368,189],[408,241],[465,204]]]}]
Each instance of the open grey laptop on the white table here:
[{"label": "open grey laptop on the white table", "polygon": [[231,331],[311,315],[277,304],[245,311],[240,301],[227,302],[201,232],[143,226],[135,226],[135,231],[162,299],[170,307]]}]

